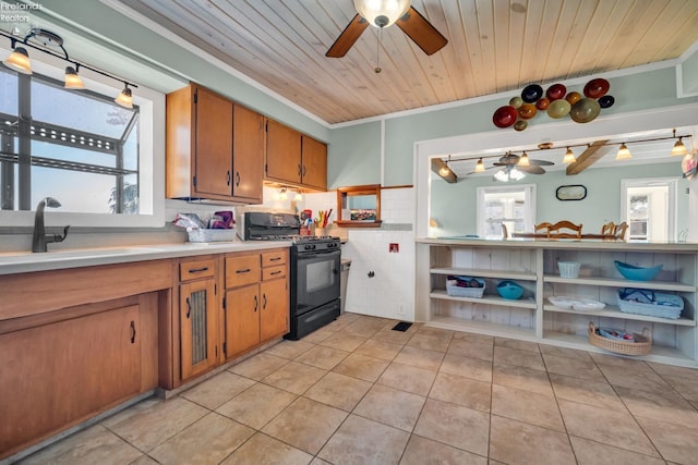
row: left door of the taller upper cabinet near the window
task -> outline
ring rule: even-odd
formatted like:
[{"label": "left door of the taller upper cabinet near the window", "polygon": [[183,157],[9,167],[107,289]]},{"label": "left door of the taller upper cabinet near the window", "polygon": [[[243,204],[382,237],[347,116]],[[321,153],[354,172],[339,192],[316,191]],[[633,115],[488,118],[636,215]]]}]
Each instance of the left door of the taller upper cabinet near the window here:
[{"label": "left door of the taller upper cabinet near the window", "polygon": [[196,184],[198,195],[232,195],[232,102],[196,89],[195,132]]}]

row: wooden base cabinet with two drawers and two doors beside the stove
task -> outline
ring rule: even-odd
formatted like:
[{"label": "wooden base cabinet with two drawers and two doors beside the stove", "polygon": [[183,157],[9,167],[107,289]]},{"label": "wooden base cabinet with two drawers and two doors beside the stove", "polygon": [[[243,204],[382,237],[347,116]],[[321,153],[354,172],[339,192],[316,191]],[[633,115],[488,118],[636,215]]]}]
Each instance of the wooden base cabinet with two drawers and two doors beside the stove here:
[{"label": "wooden base cabinet with two drawers and two doors beside the stove", "polygon": [[288,249],[226,257],[226,358],[289,330]]}]

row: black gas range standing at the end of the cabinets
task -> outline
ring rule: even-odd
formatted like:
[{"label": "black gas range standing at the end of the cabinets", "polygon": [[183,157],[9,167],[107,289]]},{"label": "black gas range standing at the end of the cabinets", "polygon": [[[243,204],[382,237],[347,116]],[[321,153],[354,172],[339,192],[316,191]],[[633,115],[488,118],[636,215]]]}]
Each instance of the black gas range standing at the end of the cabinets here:
[{"label": "black gas range standing at the end of the cabinets", "polygon": [[245,241],[291,241],[290,331],[298,340],[334,321],[340,313],[339,237],[300,235],[300,219],[292,213],[244,212],[239,231]]}]

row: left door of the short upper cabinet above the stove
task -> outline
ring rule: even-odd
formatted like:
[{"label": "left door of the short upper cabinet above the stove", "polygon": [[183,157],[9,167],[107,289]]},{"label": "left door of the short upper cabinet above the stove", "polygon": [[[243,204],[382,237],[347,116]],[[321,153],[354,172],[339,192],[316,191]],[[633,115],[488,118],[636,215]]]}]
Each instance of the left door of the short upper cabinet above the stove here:
[{"label": "left door of the short upper cabinet above the stove", "polygon": [[301,133],[267,120],[266,178],[299,184],[301,170]]}]

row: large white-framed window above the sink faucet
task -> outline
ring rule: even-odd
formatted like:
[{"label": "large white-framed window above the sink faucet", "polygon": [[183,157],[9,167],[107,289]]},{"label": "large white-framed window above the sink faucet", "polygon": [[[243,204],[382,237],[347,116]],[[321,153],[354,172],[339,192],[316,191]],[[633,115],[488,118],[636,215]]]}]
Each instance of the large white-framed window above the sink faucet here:
[{"label": "large white-framed window above the sink faucet", "polygon": [[2,224],[32,225],[50,196],[53,224],[164,225],[165,96],[139,87],[125,109],[122,83],[85,72],[87,89],[68,90],[64,62],[47,60],[32,57],[31,76],[0,69]]}]

